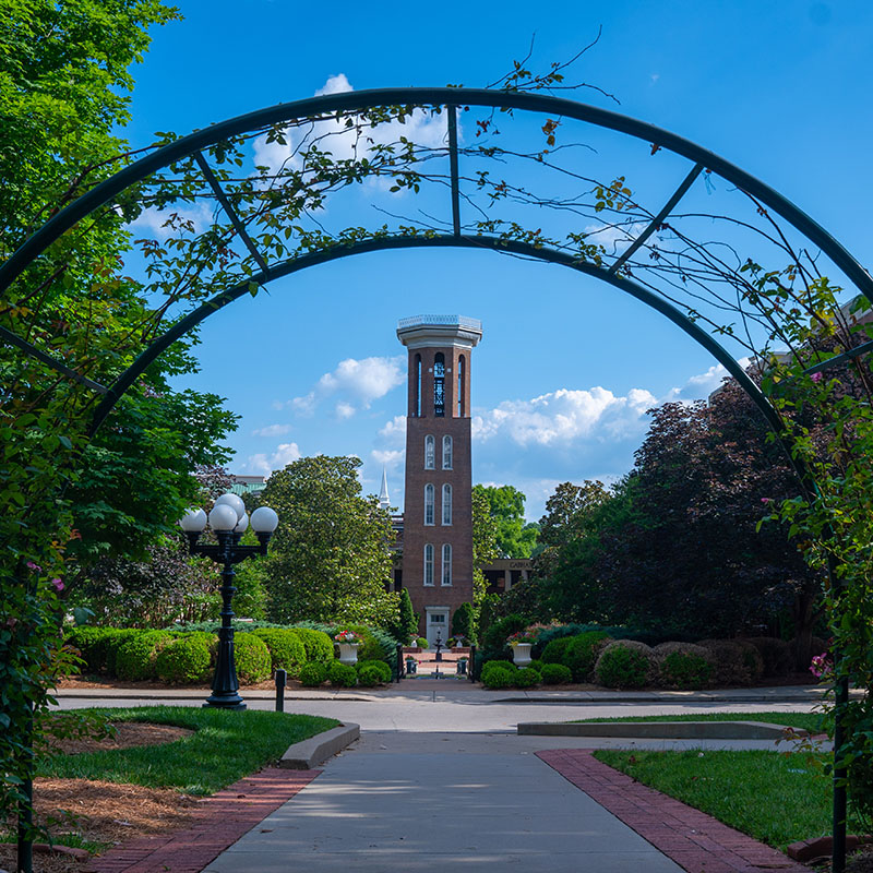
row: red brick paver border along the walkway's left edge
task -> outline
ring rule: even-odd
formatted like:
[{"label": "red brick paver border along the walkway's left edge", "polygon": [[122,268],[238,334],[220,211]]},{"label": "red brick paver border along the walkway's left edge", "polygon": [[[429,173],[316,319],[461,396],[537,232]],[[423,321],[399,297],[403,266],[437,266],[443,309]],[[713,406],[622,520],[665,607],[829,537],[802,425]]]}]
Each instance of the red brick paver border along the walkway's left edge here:
[{"label": "red brick paver border along the walkway's left edge", "polygon": [[187,827],[131,840],[88,862],[93,873],[200,873],[322,770],[266,769],[204,798]]}]

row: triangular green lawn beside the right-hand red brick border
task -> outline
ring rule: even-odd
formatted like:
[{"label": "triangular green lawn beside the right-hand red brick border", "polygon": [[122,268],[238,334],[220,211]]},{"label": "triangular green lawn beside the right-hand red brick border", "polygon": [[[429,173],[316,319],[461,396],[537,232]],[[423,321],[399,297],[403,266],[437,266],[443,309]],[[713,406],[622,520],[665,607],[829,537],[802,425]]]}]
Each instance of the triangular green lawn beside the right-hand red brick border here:
[{"label": "triangular green lawn beside the right-hand red brick border", "polygon": [[[595,757],[780,850],[830,833],[824,757],[794,752],[599,751]],[[849,822],[849,833],[857,833]]]}]

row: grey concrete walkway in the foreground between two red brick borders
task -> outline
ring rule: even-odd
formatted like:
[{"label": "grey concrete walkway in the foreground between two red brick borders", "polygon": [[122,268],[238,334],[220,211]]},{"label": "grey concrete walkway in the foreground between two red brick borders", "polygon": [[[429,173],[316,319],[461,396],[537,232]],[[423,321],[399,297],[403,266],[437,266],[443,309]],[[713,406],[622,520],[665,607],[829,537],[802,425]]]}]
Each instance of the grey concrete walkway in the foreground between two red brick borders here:
[{"label": "grey concrete walkway in the foreground between two red brick borders", "polygon": [[328,762],[206,871],[682,870],[517,738],[385,739]]}]

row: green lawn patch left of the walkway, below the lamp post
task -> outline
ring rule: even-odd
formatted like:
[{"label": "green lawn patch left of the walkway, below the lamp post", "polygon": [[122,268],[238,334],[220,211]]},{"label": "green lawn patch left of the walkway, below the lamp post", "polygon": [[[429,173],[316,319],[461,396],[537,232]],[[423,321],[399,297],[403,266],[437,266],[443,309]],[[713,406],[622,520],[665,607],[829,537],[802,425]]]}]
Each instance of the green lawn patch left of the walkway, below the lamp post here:
[{"label": "green lawn patch left of the walkway, below the lamp post", "polygon": [[59,755],[40,764],[39,776],[106,779],[177,788],[188,794],[212,794],[277,761],[291,743],[339,723],[318,716],[189,706],[98,711],[111,721],[153,721],[191,728],[195,733],[165,745]]}]

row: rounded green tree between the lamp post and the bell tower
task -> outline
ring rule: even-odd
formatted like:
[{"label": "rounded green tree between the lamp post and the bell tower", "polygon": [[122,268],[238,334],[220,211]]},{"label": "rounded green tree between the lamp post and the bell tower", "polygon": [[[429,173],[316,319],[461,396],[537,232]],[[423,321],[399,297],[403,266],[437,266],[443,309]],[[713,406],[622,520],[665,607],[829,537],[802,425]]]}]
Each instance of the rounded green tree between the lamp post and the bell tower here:
[{"label": "rounded green tree between the lamp post and the bell tower", "polygon": [[360,494],[356,457],[307,457],[274,473],[263,502],[279,515],[266,563],[274,621],[391,626],[391,516]]}]

